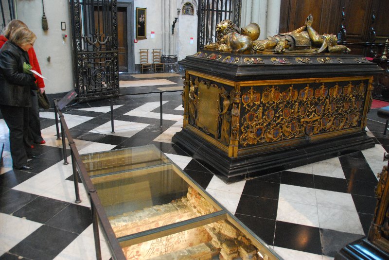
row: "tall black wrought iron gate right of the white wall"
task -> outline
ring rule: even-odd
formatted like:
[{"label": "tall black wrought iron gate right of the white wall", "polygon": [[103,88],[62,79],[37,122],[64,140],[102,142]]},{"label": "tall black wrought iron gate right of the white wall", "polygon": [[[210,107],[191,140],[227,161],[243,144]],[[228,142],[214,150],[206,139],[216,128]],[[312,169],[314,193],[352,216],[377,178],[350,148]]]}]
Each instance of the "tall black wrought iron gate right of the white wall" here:
[{"label": "tall black wrought iron gate right of the white wall", "polygon": [[119,93],[117,0],[71,0],[75,90],[82,101]]}]

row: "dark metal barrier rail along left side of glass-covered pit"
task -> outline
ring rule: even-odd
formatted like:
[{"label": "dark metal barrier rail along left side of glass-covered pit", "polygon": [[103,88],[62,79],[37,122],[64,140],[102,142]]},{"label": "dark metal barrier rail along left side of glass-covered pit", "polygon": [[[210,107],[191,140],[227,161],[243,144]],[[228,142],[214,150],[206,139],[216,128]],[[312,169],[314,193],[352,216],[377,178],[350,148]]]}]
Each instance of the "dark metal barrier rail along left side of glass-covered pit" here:
[{"label": "dark metal barrier rail along left side of glass-covered pit", "polygon": [[[90,199],[90,207],[92,211],[92,224],[93,224],[93,235],[94,235],[94,243],[96,250],[96,259],[101,260],[101,247],[100,247],[100,236],[99,236],[99,222],[101,227],[103,228],[103,234],[106,235],[106,240],[108,242],[108,249],[111,252],[112,259],[114,260],[125,260],[125,256],[122,248],[120,247],[115,233],[112,229],[112,226],[109,224],[108,217],[106,216],[106,212],[104,207],[97,195],[96,189],[94,188],[93,183],[91,182],[87,169],[84,166],[84,163],[81,160],[80,154],[77,151],[77,147],[74,143],[73,138],[71,137],[68,125],[66,124],[65,118],[58,107],[57,100],[54,100],[54,109],[56,111],[55,120],[57,119],[57,114],[59,115],[59,121],[61,124],[61,135],[62,135],[62,145],[64,156],[66,156],[66,147],[65,147],[65,137],[68,139],[70,150],[71,150],[71,163],[73,170],[73,179],[74,179],[74,191],[76,195],[75,203],[80,203],[80,194],[78,190],[78,173],[80,173],[80,177],[82,183],[84,184],[85,190],[88,192]],[[57,125],[58,129],[58,125]],[[66,158],[66,157],[64,157]],[[68,164],[68,163],[66,163]],[[77,171],[78,169],[78,171]]]}]

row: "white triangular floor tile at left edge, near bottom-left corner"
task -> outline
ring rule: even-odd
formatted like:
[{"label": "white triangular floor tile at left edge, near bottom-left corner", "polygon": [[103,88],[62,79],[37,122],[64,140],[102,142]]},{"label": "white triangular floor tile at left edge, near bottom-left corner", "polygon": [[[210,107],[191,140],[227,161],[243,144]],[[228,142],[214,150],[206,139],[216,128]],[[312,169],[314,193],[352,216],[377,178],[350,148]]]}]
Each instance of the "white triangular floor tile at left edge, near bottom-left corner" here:
[{"label": "white triangular floor tile at left edge, near bottom-left corner", "polygon": [[42,224],[0,213],[0,252],[7,252]]}]

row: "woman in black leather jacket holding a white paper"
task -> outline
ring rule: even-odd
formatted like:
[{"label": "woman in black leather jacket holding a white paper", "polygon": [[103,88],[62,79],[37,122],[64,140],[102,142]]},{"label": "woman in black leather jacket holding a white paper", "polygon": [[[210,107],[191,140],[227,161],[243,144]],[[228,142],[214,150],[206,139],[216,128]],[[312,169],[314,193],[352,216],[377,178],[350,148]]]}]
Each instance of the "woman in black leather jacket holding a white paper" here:
[{"label": "woman in black leather jacket holding a white paper", "polygon": [[[35,77],[29,71],[28,50],[36,36],[25,27],[12,31],[9,40],[0,49],[0,111],[9,128],[13,167],[30,170],[27,165],[31,146],[28,143],[31,89]],[[36,86],[35,86],[36,87]]]}]

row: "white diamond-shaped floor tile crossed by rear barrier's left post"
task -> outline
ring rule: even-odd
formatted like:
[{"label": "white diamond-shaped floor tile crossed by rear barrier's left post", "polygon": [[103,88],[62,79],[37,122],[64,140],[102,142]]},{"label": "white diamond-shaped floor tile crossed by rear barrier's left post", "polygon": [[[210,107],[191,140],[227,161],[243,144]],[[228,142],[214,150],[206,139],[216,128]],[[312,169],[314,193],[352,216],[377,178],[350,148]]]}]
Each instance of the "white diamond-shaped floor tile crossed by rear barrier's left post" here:
[{"label": "white diamond-shaped floor tile crossed by rear barrier's left post", "polygon": [[111,133],[112,131],[111,121],[106,122],[105,124],[102,124],[90,130],[89,132],[130,138],[148,126],[148,124],[145,123],[128,122],[128,121],[120,121],[120,120],[114,120],[113,123],[114,123],[115,133]]}]

